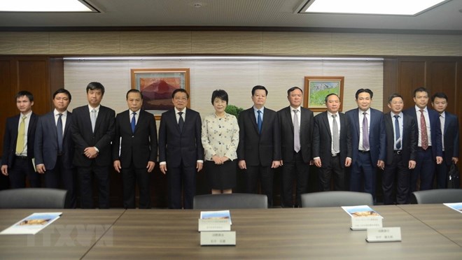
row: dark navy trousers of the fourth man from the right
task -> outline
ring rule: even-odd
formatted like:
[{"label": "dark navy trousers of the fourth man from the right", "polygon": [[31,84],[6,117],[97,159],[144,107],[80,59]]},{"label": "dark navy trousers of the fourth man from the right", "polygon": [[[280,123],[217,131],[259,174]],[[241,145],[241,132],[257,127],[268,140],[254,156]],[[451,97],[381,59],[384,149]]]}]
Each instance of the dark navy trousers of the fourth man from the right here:
[{"label": "dark navy trousers of the fourth man from the right", "polygon": [[376,162],[372,164],[370,152],[359,152],[358,158],[353,160],[350,176],[350,190],[352,192],[367,192],[375,199]]}]

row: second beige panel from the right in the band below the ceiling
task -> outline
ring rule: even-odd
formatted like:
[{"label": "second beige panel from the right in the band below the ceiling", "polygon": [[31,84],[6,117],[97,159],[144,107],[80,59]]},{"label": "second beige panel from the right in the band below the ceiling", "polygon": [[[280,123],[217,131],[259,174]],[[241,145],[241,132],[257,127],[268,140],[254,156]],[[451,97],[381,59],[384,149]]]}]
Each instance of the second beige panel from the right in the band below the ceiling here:
[{"label": "second beige panel from the right in the band below the ceiling", "polygon": [[395,34],[332,34],[332,55],[396,55]]}]

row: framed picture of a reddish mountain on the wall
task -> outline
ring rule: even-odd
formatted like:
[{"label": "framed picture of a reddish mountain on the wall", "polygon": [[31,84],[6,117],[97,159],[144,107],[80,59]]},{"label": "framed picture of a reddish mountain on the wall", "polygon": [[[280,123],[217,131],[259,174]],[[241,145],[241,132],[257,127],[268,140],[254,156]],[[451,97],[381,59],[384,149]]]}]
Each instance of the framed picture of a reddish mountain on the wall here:
[{"label": "framed picture of a reddish mountain on the wall", "polygon": [[[132,89],[143,94],[143,109],[153,113],[155,120],[174,108],[172,93],[175,89],[189,91],[189,68],[132,68]],[[186,107],[190,107],[190,99]]]}]

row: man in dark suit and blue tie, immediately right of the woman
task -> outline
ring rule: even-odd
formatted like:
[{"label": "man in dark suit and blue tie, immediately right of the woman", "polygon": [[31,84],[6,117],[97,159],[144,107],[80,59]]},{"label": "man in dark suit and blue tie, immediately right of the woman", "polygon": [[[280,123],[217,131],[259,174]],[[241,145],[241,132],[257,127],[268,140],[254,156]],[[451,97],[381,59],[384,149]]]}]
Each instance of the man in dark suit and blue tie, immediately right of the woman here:
[{"label": "man in dark suit and blue tie, immediately right of the woman", "polygon": [[253,106],[239,114],[239,168],[245,170],[246,192],[257,193],[258,179],[262,194],[273,205],[273,169],[281,164],[281,133],[274,110],[265,108],[268,91],[257,85],[252,89]]}]

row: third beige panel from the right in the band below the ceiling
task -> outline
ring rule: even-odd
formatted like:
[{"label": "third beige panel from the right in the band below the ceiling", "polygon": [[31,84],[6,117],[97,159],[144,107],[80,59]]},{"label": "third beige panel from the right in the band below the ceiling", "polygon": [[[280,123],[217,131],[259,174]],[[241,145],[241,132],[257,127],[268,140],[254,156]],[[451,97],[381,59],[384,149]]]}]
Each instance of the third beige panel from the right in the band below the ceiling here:
[{"label": "third beige panel from the right in the band below the ceiling", "polygon": [[332,34],[304,32],[264,32],[265,55],[330,55]]}]

